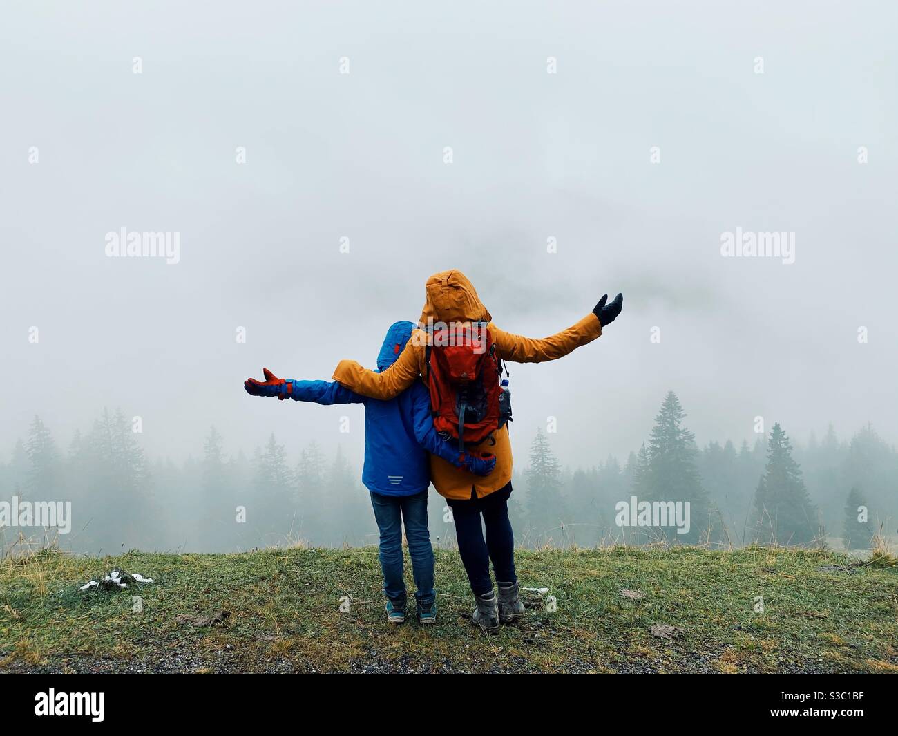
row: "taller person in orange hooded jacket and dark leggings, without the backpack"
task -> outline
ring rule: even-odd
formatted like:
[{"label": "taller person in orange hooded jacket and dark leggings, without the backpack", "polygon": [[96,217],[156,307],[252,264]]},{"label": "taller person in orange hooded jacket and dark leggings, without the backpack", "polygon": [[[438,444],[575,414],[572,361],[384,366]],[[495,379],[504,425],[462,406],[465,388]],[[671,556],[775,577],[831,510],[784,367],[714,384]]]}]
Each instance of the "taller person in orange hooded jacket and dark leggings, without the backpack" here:
[{"label": "taller person in orange hooded jacket and dark leggings, without the backpack", "polygon": [[[340,360],[333,379],[357,394],[381,400],[399,395],[420,377],[425,377],[426,381],[428,338],[423,328],[436,323],[489,323],[497,357],[503,360],[541,363],[559,359],[599,337],[603,326],[611,324],[623,306],[621,294],[611,304],[607,303],[606,294],[577,324],[536,340],[506,333],[493,324],[492,315],[480,302],[471,281],[459,270],[435,273],[427,279],[425,289],[427,300],[418,329],[390,368],[377,373],[363,368],[355,360]],[[482,629],[494,633],[500,621],[508,623],[524,614],[524,606],[518,599],[514,536],[508,520],[512,452],[507,424],[495,431],[491,439],[468,449],[473,453],[489,451],[495,455],[493,472],[480,477],[431,455],[430,475],[436,491],[445,497],[453,510],[459,553],[476,599],[472,617]],[[486,526],[486,539],[481,530],[481,515]],[[489,577],[490,560],[496,573],[498,600]]]}]

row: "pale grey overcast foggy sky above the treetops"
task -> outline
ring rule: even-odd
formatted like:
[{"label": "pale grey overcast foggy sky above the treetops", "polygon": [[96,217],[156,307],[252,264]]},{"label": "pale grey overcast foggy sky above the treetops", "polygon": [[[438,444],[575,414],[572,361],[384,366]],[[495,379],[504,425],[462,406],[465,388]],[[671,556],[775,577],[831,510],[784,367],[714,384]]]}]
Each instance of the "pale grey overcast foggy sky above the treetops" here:
[{"label": "pale grey overcast foggy sky above the treetops", "polygon": [[[448,268],[533,337],[624,293],[598,341],[511,367],[519,464],[550,416],[565,463],[623,459],[668,389],[702,444],[759,415],[898,441],[896,7],[6,4],[0,457],[103,406],[151,456],[214,424],[360,457],[360,408],[242,381],[373,367]],[[180,262],[107,257],[123,226]],[[795,262],[723,257],[736,227]]]}]

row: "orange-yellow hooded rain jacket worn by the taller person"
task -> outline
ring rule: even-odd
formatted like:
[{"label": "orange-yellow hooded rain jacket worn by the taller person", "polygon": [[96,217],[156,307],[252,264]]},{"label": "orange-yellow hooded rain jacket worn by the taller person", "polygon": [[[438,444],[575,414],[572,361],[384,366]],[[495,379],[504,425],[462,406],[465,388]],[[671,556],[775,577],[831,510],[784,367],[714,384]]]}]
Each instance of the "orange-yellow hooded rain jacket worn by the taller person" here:
[{"label": "orange-yellow hooded rain jacket worn by the taller person", "polygon": [[[487,322],[496,344],[496,354],[503,360],[515,363],[541,363],[567,355],[587,342],[592,342],[602,334],[602,325],[592,312],[577,324],[560,333],[542,340],[521,337],[500,330],[492,322],[492,316],[480,302],[471,281],[458,270],[444,270],[435,273],[425,285],[427,301],[421,312],[420,324],[443,322]],[[383,373],[363,368],[355,360],[340,360],[333,379],[340,385],[352,389],[357,394],[374,399],[391,399],[411,386],[420,376],[427,373],[425,363],[426,334],[418,329],[411,334],[399,359]],[[426,379],[425,379],[426,382]],[[471,489],[483,497],[498,491],[511,480],[511,443],[508,441],[508,426],[493,432],[493,439],[485,439],[471,449],[491,452],[496,456],[496,469],[486,476],[479,476],[459,470],[442,457],[430,456],[430,477],[437,492],[449,499],[470,499]]]}]

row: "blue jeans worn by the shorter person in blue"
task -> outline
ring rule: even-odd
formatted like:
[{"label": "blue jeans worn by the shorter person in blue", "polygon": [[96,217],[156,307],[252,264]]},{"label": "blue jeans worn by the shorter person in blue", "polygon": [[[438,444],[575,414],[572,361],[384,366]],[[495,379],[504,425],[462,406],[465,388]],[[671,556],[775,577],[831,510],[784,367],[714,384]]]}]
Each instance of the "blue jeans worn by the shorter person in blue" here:
[{"label": "blue jeans worn by the shorter person in blue", "polygon": [[383,570],[383,592],[388,599],[405,604],[405,581],[402,580],[402,523],[409,543],[411,572],[418,592],[415,598],[432,603],[434,592],[434,550],[427,530],[427,490],[413,496],[371,494],[374,519],[381,533],[380,559]]}]

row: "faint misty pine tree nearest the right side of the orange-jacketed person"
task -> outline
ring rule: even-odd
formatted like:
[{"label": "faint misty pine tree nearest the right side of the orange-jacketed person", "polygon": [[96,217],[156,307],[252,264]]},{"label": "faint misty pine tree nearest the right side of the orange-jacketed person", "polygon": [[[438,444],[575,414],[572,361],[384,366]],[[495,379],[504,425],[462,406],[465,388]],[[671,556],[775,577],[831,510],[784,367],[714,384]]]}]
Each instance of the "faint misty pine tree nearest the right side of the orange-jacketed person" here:
[{"label": "faint misty pine tree nearest the right side of the orange-jacketed person", "polygon": [[551,540],[568,541],[564,523],[568,520],[567,504],[561,495],[561,466],[552,454],[549,439],[536,430],[530,448],[527,479],[527,522],[536,544]]}]

